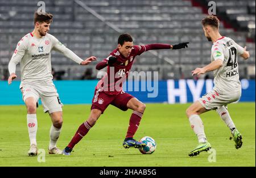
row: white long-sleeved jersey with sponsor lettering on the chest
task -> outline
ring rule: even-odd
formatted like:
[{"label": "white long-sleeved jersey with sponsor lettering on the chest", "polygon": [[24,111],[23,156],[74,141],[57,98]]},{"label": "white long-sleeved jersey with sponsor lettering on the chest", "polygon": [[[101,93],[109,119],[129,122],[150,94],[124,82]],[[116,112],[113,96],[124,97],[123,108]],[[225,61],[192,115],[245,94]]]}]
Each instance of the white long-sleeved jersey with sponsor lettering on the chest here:
[{"label": "white long-sleeved jersey with sponsor lettering on the chest", "polygon": [[20,62],[20,88],[30,82],[52,80],[51,50],[63,53],[77,63],[82,62],[80,57],[49,33],[42,38],[28,33],[19,41],[9,63],[11,74],[15,73],[16,65]]}]

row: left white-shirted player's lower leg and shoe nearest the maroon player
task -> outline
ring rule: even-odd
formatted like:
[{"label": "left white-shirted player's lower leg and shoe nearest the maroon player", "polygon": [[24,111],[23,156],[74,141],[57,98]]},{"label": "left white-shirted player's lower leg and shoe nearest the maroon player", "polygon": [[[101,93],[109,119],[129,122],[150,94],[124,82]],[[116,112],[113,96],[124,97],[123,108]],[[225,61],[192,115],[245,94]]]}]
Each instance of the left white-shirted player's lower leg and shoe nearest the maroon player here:
[{"label": "left white-shirted player's lower leg and shoe nearest the maroon player", "polygon": [[49,147],[48,147],[48,152],[49,154],[57,154],[61,155],[62,150],[58,149],[56,144],[57,144],[57,139],[60,136],[61,132],[61,126],[63,123],[63,117],[62,117],[62,112],[53,112],[49,114],[52,118],[52,126],[49,132]]}]

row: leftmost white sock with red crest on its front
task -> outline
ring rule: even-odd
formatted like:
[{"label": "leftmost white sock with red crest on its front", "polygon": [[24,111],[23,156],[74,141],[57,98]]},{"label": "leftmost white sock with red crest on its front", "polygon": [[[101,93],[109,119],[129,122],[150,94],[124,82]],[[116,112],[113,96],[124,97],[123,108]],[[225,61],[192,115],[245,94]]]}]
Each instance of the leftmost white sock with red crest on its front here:
[{"label": "leftmost white sock with red crest on its front", "polygon": [[38,130],[38,120],[36,119],[36,114],[27,114],[27,128],[30,137],[30,145],[37,145],[36,132]]}]

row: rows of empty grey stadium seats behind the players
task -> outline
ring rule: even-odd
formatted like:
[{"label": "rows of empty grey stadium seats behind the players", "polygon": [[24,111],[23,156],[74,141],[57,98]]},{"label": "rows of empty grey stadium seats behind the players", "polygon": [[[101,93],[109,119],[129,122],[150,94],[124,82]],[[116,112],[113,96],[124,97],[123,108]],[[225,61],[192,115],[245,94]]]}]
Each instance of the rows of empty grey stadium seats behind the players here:
[{"label": "rows of empty grey stadium seats behind the players", "polygon": [[[0,1],[1,79],[6,79],[8,76],[7,65],[16,44],[22,36],[34,28],[33,14],[38,8],[37,2],[35,0]],[[80,1],[102,19],[96,18],[76,1],[44,2],[46,11],[54,15],[50,33],[81,58],[93,55],[98,57],[99,61],[103,60],[117,46],[119,32],[129,32],[134,37],[134,44],[190,42],[189,48],[184,50],[144,53],[137,58],[132,70],[159,70],[160,79],[192,78],[192,69],[210,62],[212,44],[207,41],[201,28],[201,19],[206,15],[201,8],[194,7],[191,1]],[[242,46],[247,45],[251,58],[249,61],[239,61],[240,74],[241,78],[255,77],[247,73],[248,64],[255,65],[255,44],[246,40],[248,33],[255,34],[255,1],[246,0],[244,3],[239,0],[234,3],[234,1],[221,0],[217,2],[217,6],[220,7],[220,11],[229,14],[230,22],[236,19],[241,27],[254,24],[254,29],[251,28],[250,31],[241,28],[242,31],[236,32],[232,28],[224,28],[224,24],[221,23],[221,34],[232,37]],[[102,22],[104,20],[119,32]],[[94,68],[96,63],[93,62],[93,65],[86,67],[78,66],[62,54],[52,53],[52,66],[55,71],[65,71],[63,79],[79,79],[88,68],[93,69],[92,75],[96,78],[97,70]],[[208,77],[212,77],[212,74]]]}]

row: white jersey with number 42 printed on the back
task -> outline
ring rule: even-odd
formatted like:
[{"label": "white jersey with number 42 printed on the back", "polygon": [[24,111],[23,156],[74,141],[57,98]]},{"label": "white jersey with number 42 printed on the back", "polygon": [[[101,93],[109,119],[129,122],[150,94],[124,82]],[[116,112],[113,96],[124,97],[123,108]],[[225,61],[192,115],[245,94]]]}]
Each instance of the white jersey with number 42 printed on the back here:
[{"label": "white jersey with number 42 printed on the back", "polygon": [[222,94],[241,90],[238,73],[238,54],[244,49],[229,37],[221,37],[212,45],[210,60],[222,60],[223,66],[214,70],[213,90]]}]

